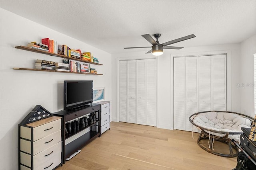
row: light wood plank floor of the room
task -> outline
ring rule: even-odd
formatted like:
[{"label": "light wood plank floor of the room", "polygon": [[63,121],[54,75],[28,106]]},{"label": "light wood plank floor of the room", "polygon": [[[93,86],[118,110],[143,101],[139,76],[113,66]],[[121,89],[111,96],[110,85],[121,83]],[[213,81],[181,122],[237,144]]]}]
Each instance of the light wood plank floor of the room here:
[{"label": "light wood plank floor of the room", "polygon": [[[57,170],[231,170],[235,158],[201,149],[198,133],[111,122],[111,129]],[[218,148],[220,147],[220,148]],[[214,143],[214,149],[226,145]]]}]

